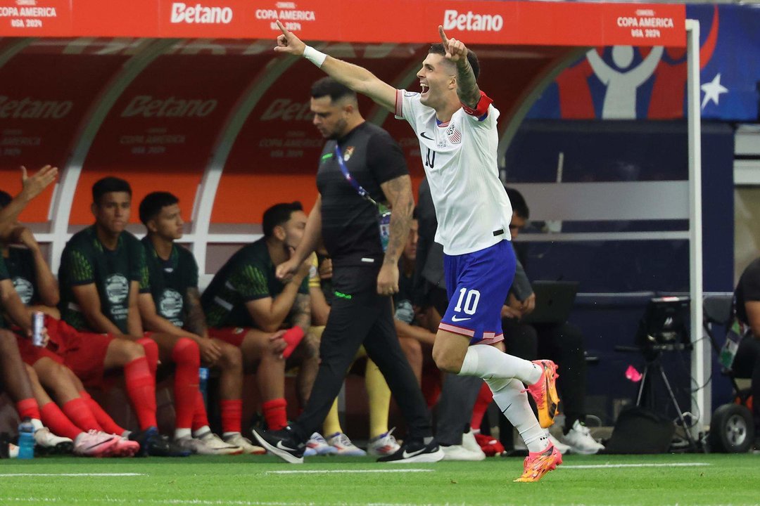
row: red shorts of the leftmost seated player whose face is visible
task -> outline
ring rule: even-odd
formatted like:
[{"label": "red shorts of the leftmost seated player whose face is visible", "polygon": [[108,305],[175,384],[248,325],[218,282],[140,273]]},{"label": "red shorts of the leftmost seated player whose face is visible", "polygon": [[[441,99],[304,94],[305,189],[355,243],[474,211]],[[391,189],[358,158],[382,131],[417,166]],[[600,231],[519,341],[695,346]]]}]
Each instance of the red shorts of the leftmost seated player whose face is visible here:
[{"label": "red shorts of the leftmost seated player whose face is visible", "polygon": [[109,344],[114,337],[109,334],[79,332],[62,320],[46,319],[50,341],[58,344],[63,363],[81,379],[84,386],[103,387],[104,364]]}]

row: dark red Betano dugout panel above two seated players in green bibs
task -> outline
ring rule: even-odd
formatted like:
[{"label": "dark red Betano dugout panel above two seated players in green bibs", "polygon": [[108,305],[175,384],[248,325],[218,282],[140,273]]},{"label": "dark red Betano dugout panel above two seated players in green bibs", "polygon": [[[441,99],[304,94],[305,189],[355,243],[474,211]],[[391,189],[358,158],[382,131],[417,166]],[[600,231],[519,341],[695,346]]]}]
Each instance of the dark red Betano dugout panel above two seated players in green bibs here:
[{"label": "dark red Betano dugout panel above two seated players in green bibs", "polygon": [[223,124],[263,66],[261,57],[242,55],[157,58],[122,93],[98,130],[70,222],[90,223],[92,184],[119,174],[129,174],[134,192],[131,222],[139,222],[137,206],[152,191],[178,196],[183,218],[189,220]]}]

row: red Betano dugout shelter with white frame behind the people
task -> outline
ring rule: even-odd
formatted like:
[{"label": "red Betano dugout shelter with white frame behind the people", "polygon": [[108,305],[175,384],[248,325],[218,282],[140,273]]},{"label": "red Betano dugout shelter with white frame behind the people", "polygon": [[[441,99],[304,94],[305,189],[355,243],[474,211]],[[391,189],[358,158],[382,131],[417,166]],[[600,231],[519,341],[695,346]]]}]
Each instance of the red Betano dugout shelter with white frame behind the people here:
[{"label": "red Betano dugout shelter with white frame behind the people", "polygon": [[[280,19],[329,55],[356,61],[383,80],[416,90],[416,71],[439,24],[478,52],[502,112],[504,157],[532,105],[590,47],[666,46],[688,55],[688,181],[614,183],[589,190],[559,184],[546,219],[689,220],[691,328],[701,329],[701,148],[699,24],[684,5],[449,0],[34,0],[0,1],[0,181],[20,188],[19,165],[50,163],[58,184],[21,216],[57,272],[71,234],[90,224],[90,187],[106,174],[141,198],[179,196],[184,244],[204,282],[239,247],[260,236],[261,214],[277,202],[315,201],[322,140],[310,124],[310,84],[321,72],[272,51]],[[423,176],[413,132],[364,98],[369,121],[404,148],[416,186]],[[539,191],[518,188],[530,201]],[[545,191],[544,185],[541,191]],[[655,192],[657,215],[641,206]],[[555,195],[555,193],[553,193]],[[136,212],[131,231],[142,235]],[[670,237],[670,236],[669,236]],[[705,383],[708,350],[696,332],[692,376]],[[709,423],[710,390],[692,411]],[[700,409],[705,407],[705,409]],[[2,425],[2,424],[0,424]]]}]

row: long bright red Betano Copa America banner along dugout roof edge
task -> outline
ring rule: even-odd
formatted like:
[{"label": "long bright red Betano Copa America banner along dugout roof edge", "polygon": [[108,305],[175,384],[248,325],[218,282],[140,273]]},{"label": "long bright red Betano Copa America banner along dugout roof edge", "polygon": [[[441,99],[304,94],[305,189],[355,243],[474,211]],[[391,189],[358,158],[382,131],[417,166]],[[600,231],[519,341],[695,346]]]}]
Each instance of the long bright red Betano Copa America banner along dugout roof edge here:
[{"label": "long bright red Betano Copa America banner along dugout roof edge", "polygon": [[0,36],[273,39],[277,19],[307,40],[433,42],[440,24],[470,44],[686,46],[686,6],[671,4],[0,0]]}]

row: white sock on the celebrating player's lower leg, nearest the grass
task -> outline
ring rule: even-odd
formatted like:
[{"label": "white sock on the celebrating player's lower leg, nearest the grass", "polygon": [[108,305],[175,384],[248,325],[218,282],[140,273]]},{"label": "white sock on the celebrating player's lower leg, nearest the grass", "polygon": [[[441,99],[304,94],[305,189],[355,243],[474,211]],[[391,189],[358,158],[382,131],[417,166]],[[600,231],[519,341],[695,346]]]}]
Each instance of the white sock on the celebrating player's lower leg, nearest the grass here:
[{"label": "white sock on the celebrating player's lower leg, nearest the grass", "polygon": [[520,432],[528,451],[542,451],[549,444],[546,435],[536,420],[536,415],[530,409],[527,402],[527,394],[524,385],[517,379],[486,379],[486,383],[493,392],[493,400],[507,417],[509,423]]}]

